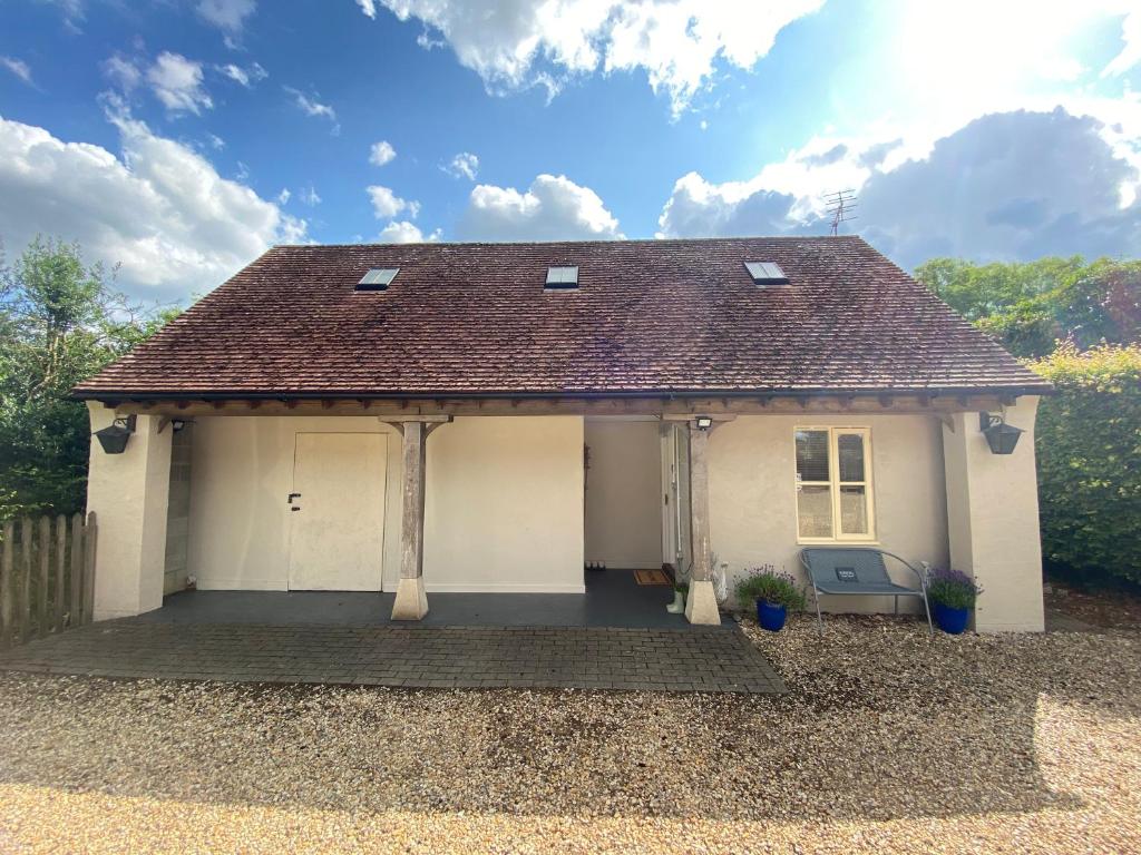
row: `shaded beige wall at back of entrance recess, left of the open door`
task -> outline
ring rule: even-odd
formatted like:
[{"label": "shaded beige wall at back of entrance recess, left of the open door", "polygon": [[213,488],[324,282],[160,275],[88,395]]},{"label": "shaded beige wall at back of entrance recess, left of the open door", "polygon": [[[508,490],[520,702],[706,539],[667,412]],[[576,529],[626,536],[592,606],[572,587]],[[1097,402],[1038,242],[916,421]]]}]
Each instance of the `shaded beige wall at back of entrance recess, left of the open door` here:
[{"label": "shaded beige wall at back of entrance recess, left of the open door", "polygon": [[661,422],[586,420],[586,561],[662,564]]}]

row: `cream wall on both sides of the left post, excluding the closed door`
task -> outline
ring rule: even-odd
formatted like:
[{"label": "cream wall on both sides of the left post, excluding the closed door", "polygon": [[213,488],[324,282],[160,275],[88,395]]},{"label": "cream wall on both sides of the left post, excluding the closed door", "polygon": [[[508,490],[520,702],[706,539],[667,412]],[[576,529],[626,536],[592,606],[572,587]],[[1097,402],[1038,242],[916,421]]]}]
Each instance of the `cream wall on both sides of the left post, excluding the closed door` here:
[{"label": "cream wall on both sides of the left post, excluding the closed door", "polygon": [[[298,432],[388,433],[383,587],[399,577],[400,435],[374,417],[200,417],[188,572],[200,588],[284,591]],[[583,589],[582,418],[458,418],[428,439],[424,584]]]}]

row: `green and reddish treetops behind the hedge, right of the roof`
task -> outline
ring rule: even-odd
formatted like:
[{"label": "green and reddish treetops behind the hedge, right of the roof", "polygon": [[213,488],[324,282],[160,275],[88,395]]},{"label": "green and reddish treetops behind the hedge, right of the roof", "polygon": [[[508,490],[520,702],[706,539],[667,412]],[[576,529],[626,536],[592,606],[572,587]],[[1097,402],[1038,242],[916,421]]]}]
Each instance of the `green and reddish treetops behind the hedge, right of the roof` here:
[{"label": "green and reddish treetops behind the hedge, right of the roof", "polygon": [[932,259],[915,277],[1015,356],[1046,356],[1059,341],[1084,350],[1141,339],[1141,261]]}]

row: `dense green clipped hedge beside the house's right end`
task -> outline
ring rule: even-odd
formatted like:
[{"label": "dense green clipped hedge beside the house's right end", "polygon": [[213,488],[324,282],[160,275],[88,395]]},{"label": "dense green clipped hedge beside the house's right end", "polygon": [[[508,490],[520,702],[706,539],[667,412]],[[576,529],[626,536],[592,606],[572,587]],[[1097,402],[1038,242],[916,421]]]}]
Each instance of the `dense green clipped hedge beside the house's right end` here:
[{"label": "dense green clipped hedge beside the house's right end", "polygon": [[1141,345],[1062,345],[1030,367],[1058,388],[1037,420],[1043,557],[1141,583]]}]

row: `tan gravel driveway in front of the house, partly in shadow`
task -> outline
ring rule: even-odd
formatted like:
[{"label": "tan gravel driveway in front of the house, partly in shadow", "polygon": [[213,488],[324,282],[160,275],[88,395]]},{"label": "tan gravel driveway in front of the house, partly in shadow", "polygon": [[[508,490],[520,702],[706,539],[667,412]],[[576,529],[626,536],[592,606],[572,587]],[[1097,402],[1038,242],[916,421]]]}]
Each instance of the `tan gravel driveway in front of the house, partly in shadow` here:
[{"label": "tan gravel driveway in front of the house, partly in shadow", "polygon": [[746,627],[790,693],[0,677],[2,852],[1141,852],[1141,634]]}]

